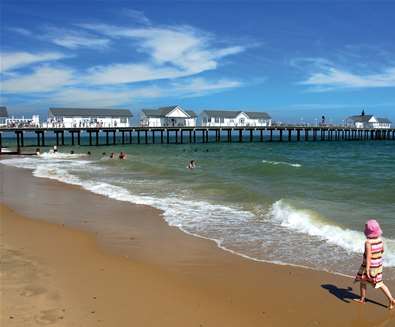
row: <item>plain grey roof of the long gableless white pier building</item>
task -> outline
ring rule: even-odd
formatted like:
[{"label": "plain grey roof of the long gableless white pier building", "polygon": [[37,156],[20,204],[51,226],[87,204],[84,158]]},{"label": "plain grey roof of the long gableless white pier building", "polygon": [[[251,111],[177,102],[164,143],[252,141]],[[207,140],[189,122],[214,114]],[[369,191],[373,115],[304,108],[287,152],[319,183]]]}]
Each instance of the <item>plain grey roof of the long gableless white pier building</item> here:
[{"label": "plain grey roof of the long gableless white pier building", "polygon": [[62,117],[132,117],[128,109],[49,108],[48,115]]}]

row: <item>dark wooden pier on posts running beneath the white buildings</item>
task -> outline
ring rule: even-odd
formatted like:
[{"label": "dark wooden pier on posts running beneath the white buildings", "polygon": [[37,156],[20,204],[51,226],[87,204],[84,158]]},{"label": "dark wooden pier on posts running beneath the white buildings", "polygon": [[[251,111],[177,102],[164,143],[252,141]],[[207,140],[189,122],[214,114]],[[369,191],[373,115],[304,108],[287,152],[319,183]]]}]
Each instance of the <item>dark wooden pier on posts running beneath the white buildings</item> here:
[{"label": "dark wooden pier on posts running beneath the white buildings", "polygon": [[[88,139],[88,144],[84,145],[89,146],[209,142],[395,141],[395,128],[359,129],[339,126],[1,128],[0,148],[5,133],[15,136],[17,149],[25,146],[26,133],[35,134],[36,142],[30,146],[36,147],[82,145],[83,134]],[[51,144],[49,144],[48,136],[51,135]]]}]

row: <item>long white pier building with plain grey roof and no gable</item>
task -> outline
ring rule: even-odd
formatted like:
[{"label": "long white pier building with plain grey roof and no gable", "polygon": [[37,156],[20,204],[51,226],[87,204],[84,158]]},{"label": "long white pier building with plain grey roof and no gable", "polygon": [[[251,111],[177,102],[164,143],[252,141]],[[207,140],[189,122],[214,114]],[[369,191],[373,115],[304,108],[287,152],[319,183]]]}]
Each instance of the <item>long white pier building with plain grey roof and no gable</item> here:
[{"label": "long white pier building with plain grey roof and no gable", "polygon": [[128,109],[50,108],[47,127],[129,127]]}]

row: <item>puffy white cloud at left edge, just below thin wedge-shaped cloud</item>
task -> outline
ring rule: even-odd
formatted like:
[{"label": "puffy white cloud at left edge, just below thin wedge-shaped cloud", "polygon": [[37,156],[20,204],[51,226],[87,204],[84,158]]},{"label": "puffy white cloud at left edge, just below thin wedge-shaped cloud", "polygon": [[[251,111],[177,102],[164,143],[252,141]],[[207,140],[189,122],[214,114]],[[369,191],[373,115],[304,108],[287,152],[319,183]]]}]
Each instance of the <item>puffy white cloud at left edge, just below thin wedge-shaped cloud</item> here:
[{"label": "puffy white cloud at left edge, just below thin wedge-shaped cloud", "polygon": [[46,93],[73,83],[73,71],[68,68],[42,66],[34,69],[31,74],[15,75],[1,82],[1,92],[6,94]]}]

